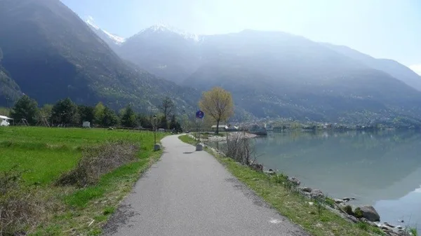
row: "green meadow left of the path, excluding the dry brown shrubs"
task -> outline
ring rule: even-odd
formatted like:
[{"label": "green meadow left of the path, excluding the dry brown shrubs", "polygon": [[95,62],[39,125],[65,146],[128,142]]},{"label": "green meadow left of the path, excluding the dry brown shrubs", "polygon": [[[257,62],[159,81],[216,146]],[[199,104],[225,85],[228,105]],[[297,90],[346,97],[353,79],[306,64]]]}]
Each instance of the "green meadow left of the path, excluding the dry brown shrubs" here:
[{"label": "green meadow left of the path, excluding the dry brown shrubs", "polygon": [[[163,137],[157,135],[157,139]],[[135,160],[102,174],[89,186],[55,184],[63,173],[76,167],[82,150],[112,141],[136,146]],[[19,185],[31,193],[41,210],[33,217],[36,221],[21,223],[15,230],[28,235],[100,235],[140,174],[161,156],[161,152],[153,152],[153,144],[152,132],[1,127],[0,172],[13,167],[23,172]]]}]

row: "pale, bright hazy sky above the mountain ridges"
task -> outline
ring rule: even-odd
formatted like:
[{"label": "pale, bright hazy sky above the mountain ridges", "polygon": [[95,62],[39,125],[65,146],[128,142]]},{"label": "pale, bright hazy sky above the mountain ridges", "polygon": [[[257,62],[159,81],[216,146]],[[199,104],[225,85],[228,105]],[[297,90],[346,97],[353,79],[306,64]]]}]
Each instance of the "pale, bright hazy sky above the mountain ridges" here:
[{"label": "pale, bright hazy sky above the mountain ridges", "polygon": [[196,34],[279,30],[397,60],[421,74],[421,0],[62,0],[129,37],[163,22]]}]

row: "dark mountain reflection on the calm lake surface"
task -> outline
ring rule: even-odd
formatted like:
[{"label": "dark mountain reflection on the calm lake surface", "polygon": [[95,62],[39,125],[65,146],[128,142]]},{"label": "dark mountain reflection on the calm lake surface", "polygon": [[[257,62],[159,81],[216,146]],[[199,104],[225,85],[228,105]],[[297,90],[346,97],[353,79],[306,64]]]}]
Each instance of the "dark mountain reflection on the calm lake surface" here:
[{"label": "dark mountain reflection on the calm lake surface", "polygon": [[296,132],[255,141],[264,165],[336,197],[356,196],[368,204],[420,186],[417,132]]}]

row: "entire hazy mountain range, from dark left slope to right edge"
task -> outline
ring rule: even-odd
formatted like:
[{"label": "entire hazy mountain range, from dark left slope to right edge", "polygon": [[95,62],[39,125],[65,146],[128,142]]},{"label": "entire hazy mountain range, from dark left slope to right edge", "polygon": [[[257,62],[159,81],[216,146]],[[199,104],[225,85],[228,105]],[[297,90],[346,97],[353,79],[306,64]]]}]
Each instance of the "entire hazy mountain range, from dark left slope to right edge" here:
[{"label": "entire hazy mountain range, from dark left slope to right edge", "polygon": [[193,111],[201,91],[221,86],[236,118],[421,120],[421,77],[408,67],[284,32],[198,36],[154,25],[123,39],[58,0],[3,0],[0,35],[3,97],[145,111],[169,96]]}]

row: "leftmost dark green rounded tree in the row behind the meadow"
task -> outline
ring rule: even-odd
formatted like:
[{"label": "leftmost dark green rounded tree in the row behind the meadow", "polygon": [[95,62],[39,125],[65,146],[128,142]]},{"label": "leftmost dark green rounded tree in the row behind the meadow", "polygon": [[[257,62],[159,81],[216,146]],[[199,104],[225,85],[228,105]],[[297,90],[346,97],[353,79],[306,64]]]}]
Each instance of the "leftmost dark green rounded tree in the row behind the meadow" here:
[{"label": "leftmost dark green rounded tree in the row behind the meadow", "polygon": [[15,122],[26,119],[29,125],[35,125],[38,114],[38,103],[27,95],[23,95],[13,106],[11,118],[15,119]]}]

